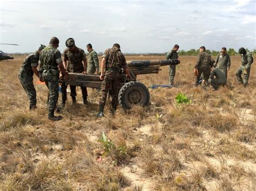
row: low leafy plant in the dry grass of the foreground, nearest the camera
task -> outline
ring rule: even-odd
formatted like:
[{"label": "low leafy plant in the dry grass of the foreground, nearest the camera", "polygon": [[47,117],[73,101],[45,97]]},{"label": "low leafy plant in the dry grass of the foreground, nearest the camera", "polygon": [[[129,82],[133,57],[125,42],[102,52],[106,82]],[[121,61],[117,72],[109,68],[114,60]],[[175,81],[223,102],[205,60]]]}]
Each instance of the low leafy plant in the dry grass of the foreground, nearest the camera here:
[{"label": "low leafy plant in the dry grass of the foreground, nearest the camera", "polygon": [[105,133],[102,132],[102,137],[98,139],[98,142],[102,143],[104,148],[104,153],[102,156],[110,155],[113,164],[119,165],[127,157],[127,147],[126,146],[116,146],[111,140],[107,139]]}]

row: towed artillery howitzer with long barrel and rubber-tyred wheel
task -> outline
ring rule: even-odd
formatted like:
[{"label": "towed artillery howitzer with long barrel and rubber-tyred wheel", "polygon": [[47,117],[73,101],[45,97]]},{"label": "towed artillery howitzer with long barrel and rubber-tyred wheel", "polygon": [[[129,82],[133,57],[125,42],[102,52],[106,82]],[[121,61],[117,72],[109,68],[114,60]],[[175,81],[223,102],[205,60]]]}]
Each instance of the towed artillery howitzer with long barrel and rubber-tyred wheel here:
[{"label": "towed artillery howitzer with long barrel and rubber-tyred wheel", "polygon": [[[127,61],[130,68],[131,78],[126,79],[122,73],[122,85],[118,95],[119,104],[123,108],[131,108],[133,104],[147,105],[150,101],[150,93],[147,87],[136,81],[137,75],[158,74],[161,66],[178,65],[179,60],[135,60]],[[97,74],[69,73],[66,84],[71,86],[84,86],[89,88],[100,88],[102,81]]]}]

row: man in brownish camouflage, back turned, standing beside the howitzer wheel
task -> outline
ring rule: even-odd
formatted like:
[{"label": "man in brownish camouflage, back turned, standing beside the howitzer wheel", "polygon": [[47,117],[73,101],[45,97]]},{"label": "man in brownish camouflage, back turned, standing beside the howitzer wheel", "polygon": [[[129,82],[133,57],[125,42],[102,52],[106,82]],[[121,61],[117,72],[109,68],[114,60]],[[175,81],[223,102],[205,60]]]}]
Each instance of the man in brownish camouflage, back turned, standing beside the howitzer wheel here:
[{"label": "man in brownish camouflage, back turned, standing beside the howitzer wheel", "polygon": [[106,49],[102,58],[102,65],[100,66],[100,70],[102,71],[102,73],[100,74],[100,80],[103,81],[100,90],[99,112],[97,114],[97,117],[104,117],[103,111],[106,104],[107,93],[109,92],[109,90],[111,90],[112,92],[111,112],[113,115],[117,109],[118,93],[121,86],[121,68],[124,68],[126,77],[131,77],[130,69],[126,63],[123,53],[120,51],[119,44],[114,44],[112,48]]}]

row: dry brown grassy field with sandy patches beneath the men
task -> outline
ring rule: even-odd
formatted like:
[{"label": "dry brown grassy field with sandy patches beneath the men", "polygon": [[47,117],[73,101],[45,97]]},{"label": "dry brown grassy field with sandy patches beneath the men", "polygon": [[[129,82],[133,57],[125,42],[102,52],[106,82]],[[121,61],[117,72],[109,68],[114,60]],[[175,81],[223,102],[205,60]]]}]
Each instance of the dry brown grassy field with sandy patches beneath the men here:
[{"label": "dry brown grassy field with sandy patches beneath the men", "polygon": [[[64,119],[51,122],[44,85],[35,85],[38,109],[28,109],[17,77],[24,58],[0,62],[0,190],[255,190],[254,64],[244,88],[235,79],[240,57],[232,57],[227,86],[213,91],[191,86],[197,58],[180,57],[178,87],[150,89],[148,107],[118,108],[112,117],[107,105],[98,119],[98,92],[88,88],[84,106],[79,89],[78,103],[68,96]],[[153,59],[164,57],[126,57]],[[167,84],[168,73],[138,80]],[[180,92],[192,103],[177,104]],[[102,131],[111,140],[106,155]]]}]

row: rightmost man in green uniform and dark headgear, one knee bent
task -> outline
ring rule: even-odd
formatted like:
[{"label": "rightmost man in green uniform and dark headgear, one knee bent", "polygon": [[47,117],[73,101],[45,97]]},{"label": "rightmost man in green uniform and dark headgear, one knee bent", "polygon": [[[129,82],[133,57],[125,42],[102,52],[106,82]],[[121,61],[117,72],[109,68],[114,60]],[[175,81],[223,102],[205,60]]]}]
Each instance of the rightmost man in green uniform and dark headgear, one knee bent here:
[{"label": "rightmost man in green uniform and dark headgear, one knee bent", "polygon": [[[238,52],[239,54],[241,54],[242,63],[241,66],[238,68],[237,73],[235,73],[235,75],[237,75],[238,83],[243,84],[244,87],[246,87],[250,76],[253,57],[252,53],[246,52],[246,49],[243,47],[239,48]],[[244,75],[244,79],[242,79],[242,74]]]}]

